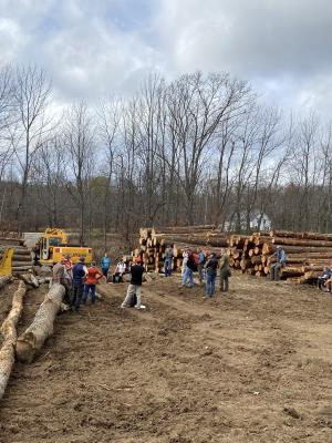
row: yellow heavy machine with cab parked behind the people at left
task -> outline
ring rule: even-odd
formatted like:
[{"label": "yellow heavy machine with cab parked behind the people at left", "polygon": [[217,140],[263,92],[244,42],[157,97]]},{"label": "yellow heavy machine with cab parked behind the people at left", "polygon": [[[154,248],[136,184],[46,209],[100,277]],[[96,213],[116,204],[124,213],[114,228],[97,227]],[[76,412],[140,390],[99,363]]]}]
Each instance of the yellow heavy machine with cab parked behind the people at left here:
[{"label": "yellow heavy machine with cab parked behind the people at left", "polygon": [[[38,251],[37,251],[38,249]],[[77,262],[80,257],[85,257],[85,264],[92,261],[92,248],[70,245],[68,235],[63,229],[48,228],[35,245],[41,265],[50,265],[61,260],[69,254],[72,262]]]}]

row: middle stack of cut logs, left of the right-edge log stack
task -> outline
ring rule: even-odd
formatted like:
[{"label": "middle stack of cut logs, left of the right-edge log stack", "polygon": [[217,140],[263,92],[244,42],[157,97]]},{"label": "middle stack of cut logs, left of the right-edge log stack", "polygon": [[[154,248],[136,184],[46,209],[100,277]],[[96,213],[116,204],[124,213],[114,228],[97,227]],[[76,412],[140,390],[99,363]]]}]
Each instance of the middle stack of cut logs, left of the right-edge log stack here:
[{"label": "middle stack of cut logs, left of the right-edge log stack", "polygon": [[216,229],[214,225],[141,228],[139,248],[133,251],[141,256],[146,271],[163,271],[165,249],[174,249],[174,270],[181,267],[183,253],[189,247],[193,253],[203,249],[206,253],[220,255],[221,247],[228,247],[227,235]]}]

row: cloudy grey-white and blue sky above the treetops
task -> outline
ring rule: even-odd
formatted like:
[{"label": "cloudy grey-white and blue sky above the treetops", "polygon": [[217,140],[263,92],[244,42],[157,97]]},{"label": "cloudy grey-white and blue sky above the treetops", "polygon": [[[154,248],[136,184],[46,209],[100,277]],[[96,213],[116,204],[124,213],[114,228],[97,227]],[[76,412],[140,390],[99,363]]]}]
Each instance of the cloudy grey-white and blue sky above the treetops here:
[{"label": "cloudy grey-white and blue sky above the treetops", "polygon": [[0,0],[1,63],[38,63],[56,100],[128,94],[152,71],[248,80],[330,117],[331,0]]}]

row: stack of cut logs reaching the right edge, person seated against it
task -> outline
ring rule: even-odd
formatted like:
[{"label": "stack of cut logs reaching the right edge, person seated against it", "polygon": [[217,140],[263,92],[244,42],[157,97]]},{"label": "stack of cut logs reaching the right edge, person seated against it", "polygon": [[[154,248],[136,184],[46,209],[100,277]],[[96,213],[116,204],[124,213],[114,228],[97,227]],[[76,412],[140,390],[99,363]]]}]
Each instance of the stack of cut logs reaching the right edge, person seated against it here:
[{"label": "stack of cut logs reaching the right edge, person seated against it", "polygon": [[276,261],[271,255],[277,245],[287,254],[287,266],[281,269],[282,279],[311,282],[332,266],[332,235],[271,230],[251,236],[231,236],[228,254],[230,265],[242,272],[267,276]]}]

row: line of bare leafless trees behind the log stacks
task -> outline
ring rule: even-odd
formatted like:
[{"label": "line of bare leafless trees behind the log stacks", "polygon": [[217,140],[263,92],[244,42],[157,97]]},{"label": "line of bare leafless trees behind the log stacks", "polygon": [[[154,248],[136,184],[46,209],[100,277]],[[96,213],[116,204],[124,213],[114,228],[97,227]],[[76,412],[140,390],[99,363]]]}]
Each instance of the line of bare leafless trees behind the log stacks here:
[{"label": "line of bare leafless trees behind the log stacks", "polygon": [[[0,70],[0,228],[115,229],[215,223],[332,230],[332,132],[262,103],[229,73],[110,91],[58,112],[35,65]],[[259,222],[258,222],[259,225]],[[260,226],[258,226],[259,228]]]}]

